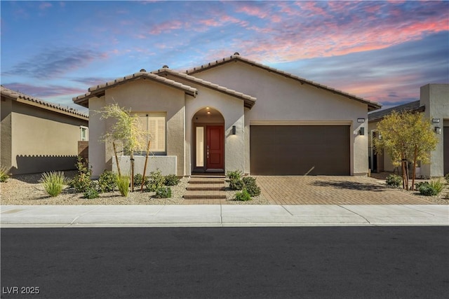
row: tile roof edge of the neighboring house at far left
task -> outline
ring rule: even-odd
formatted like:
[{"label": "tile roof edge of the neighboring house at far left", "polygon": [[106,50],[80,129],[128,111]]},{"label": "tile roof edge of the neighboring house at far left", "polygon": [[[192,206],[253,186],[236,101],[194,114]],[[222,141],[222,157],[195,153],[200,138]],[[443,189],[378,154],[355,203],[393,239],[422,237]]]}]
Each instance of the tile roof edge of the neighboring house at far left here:
[{"label": "tile roof edge of the neighboring house at far left", "polygon": [[55,111],[55,112],[65,114],[68,116],[73,116],[75,118],[81,118],[83,120],[88,120],[88,118],[89,118],[86,114],[80,113],[72,108],[68,108],[68,107],[64,108],[64,107],[60,106],[59,104],[45,102],[42,99],[38,99],[38,98],[32,97],[30,95],[25,95],[22,92],[16,92],[9,88],[5,88],[3,85],[1,86],[1,95],[4,97],[13,99],[17,102],[29,104],[31,106],[36,106],[41,109],[46,109],[49,111]]}]

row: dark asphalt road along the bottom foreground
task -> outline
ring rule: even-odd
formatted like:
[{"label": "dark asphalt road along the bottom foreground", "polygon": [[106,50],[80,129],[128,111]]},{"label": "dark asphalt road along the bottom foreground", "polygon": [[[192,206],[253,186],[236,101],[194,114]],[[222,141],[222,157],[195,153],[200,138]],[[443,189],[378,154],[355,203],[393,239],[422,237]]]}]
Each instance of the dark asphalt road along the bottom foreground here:
[{"label": "dark asphalt road along the bottom foreground", "polygon": [[448,227],[8,228],[1,297],[448,298],[448,245]]}]

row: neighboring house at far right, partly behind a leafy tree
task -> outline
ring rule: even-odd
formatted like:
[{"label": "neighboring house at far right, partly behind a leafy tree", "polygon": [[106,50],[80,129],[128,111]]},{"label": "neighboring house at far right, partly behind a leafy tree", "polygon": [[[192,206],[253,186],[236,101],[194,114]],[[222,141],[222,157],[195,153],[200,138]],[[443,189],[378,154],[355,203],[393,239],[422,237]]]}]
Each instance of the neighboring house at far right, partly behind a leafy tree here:
[{"label": "neighboring house at far right, partly behind a leafy tree", "polygon": [[421,87],[420,100],[375,111],[368,114],[370,169],[373,172],[393,172],[395,167],[387,153],[377,154],[371,146],[377,134],[377,123],[392,111],[410,111],[424,113],[431,120],[433,130],[438,137],[436,150],[431,152],[430,164],[420,165],[417,176],[443,176],[449,173],[449,84],[427,84]]}]

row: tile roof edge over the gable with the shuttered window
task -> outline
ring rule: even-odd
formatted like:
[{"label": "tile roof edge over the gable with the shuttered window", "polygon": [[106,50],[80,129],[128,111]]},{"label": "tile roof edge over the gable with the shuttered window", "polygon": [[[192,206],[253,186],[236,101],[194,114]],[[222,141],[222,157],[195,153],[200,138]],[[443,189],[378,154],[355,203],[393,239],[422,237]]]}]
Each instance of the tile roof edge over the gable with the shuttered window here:
[{"label": "tile roof edge over the gable with the shuttered window", "polygon": [[139,79],[149,79],[152,81],[156,81],[171,86],[173,88],[184,90],[185,93],[187,93],[187,95],[191,95],[192,97],[196,97],[196,94],[198,93],[198,90],[196,90],[196,88],[192,88],[188,85],[184,85],[182,83],[170,80],[168,78],[164,78],[162,76],[158,76],[156,74],[149,73],[147,71],[139,71],[138,73],[131,74],[123,78],[117,78],[114,81],[109,81],[104,84],[92,86],[91,88],[88,88],[88,92],[86,92],[84,95],[74,97],[73,102],[75,102],[76,104],[80,104],[81,106],[88,107],[89,106],[88,99],[90,99],[91,97],[101,97],[102,95],[105,95],[105,90],[107,90],[108,88],[113,88],[116,85],[120,85],[129,81],[135,81]]}]

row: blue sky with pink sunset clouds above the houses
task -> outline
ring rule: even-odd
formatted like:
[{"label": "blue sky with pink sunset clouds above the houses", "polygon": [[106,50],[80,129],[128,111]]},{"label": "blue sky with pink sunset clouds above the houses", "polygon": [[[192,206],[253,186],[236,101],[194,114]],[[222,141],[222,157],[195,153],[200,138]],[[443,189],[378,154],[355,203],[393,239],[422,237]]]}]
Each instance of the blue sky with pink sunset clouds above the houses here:
[{"label": "blue sky with pink sunset clouds above the houses", "polygon": [[243,57],[387,108],[449,83],[448,1],[0,1],[1,85],[72,103],[167,64]]}]

